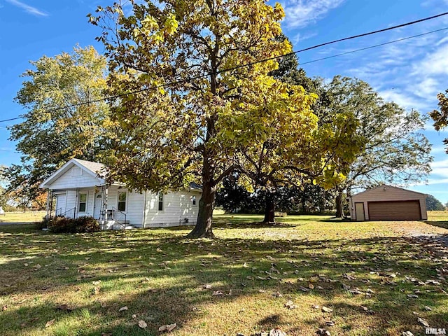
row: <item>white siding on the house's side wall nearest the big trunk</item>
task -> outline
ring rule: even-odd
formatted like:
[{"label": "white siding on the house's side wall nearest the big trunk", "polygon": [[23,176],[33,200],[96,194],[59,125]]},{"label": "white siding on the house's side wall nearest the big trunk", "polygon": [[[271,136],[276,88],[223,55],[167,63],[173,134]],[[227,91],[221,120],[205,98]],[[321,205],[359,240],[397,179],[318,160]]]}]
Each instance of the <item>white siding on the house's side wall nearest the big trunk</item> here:
[{"label": "white siding on the house's side wall nearest the big trunk", "polygon": [[[193,197],[196,197],[196,204],[193,205]],[[158,195],[146,193],[145,228],[161,226],[176,226],[196,223],[197,211],[201,193],[198,192],[176,192],[167,193],[163,197],[163,211],[158,209]]]}]

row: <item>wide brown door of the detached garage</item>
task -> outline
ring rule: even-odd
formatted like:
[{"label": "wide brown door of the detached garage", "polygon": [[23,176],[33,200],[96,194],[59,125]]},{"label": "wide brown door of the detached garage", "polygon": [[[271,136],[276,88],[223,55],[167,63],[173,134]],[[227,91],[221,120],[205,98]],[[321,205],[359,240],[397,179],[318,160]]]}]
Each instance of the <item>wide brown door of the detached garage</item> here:
[{"label": "wide brown door of the detached garage", "polygon": [[420,221],[419,200],[368,202],[370,221]]}]

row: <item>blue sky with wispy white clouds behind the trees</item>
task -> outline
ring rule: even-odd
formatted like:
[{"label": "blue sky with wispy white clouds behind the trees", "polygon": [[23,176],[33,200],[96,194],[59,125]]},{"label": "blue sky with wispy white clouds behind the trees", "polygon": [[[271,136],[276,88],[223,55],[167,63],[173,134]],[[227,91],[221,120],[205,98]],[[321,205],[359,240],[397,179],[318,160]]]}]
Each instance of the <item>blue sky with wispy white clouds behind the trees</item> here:
[{"label": "blue sky with wispy white clouds behind the trees", "polygon": [[[0,0],[0,120],[15,118],[25,111],[13,102],[29,61],[43,55],[54,56],[80,46],[102,45],[94,41],[100,34],[85,15],[97,5],[113,1],[88,0]],[[273,2],[273,1],[271,1]],[[399,25],[448,11],[448,0],[281,0],[286,19],[283,31],[295,50],[345,36]],[[300,62],[386,43],[448,27],[448,17],[411,27],[358,38],[300,53]],[[448,30],[412,38],[379,48],[355,52],[320,62],[304,64],[309,76],[357,77],[370,83],[386,100],[428,113],[437,108],[437,93],[448,88]],[[20,162],[15,144],[8,141],[6,125],[0,123],[0,165]],[[412,190],[434,195],[448,202],[448,155],[442,140],[448,130],[435,132],[428,123],[424,131],[433,144],[433,173],[428,184]]]}]

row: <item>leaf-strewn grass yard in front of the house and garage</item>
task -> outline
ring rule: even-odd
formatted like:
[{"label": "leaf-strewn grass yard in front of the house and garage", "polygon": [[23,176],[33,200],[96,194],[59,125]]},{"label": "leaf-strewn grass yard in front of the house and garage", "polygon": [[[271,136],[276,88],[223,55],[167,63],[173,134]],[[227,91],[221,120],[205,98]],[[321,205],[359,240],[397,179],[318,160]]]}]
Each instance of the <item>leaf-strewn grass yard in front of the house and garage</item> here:
[{"label": "leaf-strewn grass yard in front of the house and garage", "polygon": [[54,235],[0,225],[0,335],[160,335],[172,323],[176,336],[424,335],[418,318],[448,329],[447,249],[409,237],[447,229],[261,219],[215,216],[216,239],[200,240],[183,239],[185,227]]}]

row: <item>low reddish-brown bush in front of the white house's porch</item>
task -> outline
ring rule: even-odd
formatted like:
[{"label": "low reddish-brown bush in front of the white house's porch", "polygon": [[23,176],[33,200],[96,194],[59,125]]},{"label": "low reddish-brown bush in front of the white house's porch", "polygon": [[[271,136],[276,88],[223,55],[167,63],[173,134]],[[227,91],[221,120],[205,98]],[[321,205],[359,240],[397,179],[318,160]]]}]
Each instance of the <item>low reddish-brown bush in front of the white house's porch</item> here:
[{"label": "low reddish-brown bush in front of the white house's porch", "polygon": [[42,223],[47,223],[48,229],[54,233],[84,233],[101,230],[98,222],[93,217],[87,216],[74,219],[55,217],[50,220],[44,219]]}]

